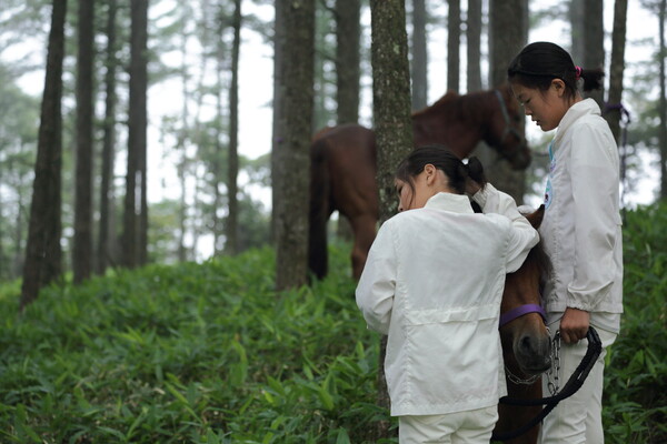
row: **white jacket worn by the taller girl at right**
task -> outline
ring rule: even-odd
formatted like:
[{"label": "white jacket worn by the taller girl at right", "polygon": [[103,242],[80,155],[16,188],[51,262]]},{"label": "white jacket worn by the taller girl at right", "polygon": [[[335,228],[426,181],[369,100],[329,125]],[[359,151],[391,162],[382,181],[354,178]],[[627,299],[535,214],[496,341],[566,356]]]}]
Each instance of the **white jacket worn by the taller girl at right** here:
[{"label": "white jacket worn by the taller girl at right", "polygon": [[549,155],[546,213],[539,229],[554,269],[545,284],[546,309],[621,313],[618,151],[593,99],[570,107]]}]

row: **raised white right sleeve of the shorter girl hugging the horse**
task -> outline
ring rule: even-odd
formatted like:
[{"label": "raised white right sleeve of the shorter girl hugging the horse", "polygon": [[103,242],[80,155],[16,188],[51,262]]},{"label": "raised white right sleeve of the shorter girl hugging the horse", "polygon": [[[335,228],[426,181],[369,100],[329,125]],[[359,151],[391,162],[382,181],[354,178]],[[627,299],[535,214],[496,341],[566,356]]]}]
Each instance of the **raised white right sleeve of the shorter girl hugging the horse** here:
[{"label": "raised white right sleeve of the shorter girl hugging the horse", "polygon": [[519,213],[515,200],[490,183],[478,191],[472,200],[481,206],[484,213],[498,213],[509,219],[511,226],[507,243],[506,269],[508,273],[514,273],[521,266],[530,249],[539,242],[537,230]]}]

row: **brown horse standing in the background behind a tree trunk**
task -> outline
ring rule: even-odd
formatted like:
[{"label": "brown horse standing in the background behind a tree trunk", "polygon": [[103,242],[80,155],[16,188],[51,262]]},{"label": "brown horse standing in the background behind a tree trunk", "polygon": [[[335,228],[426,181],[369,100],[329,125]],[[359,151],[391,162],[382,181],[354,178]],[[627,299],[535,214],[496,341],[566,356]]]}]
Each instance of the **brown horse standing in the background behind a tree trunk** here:
[{"label": "brown horse standing in the background behind a tree trunk", "polygon": [[[522,121],[509,88],[449,92],[412,114],[415,147],[444,144],[465,159],[484,140],[515,169],[525,169],[530,151],[519,131]],[[375,134],[358,124],[326,128],[310,150],[309,268],[318,279],[327,274],[327,221],[338,210],[352,228],[352,275],[358,279],[378,222]]]}]

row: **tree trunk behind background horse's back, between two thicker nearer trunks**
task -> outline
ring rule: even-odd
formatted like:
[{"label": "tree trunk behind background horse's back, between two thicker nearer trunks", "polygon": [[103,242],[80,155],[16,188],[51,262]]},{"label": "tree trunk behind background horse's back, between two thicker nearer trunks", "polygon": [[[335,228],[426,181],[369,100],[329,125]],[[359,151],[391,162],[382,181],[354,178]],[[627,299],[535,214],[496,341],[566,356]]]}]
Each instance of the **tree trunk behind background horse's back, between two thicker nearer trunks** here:
[{"label": "tree trunk behind background horse's back, between two thicker nearer trunks", "polygon": [[339,124],[359,121],[360,13],[359,0],[336,1],[336,101]]}]

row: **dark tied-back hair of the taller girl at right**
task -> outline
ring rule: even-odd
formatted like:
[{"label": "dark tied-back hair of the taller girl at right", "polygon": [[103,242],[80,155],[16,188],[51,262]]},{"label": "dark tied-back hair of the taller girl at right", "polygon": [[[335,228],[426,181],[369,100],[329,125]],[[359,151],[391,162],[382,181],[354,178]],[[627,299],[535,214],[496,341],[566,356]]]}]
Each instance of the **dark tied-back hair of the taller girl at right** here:
[{"label": "dark tied-back hair of the taller girl at right", "polygon": [[577,80],[584,79],[584,91],[597,90],[603,87],[601,69],[583,69],[575,65],[570,54],[551,42],[535,42],[528,44],[509,63],[507,78],[510,83],[526,88],[537,88],[546,91],[551,80],[565,82],[568,97],[577,94]]}]

